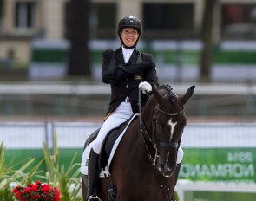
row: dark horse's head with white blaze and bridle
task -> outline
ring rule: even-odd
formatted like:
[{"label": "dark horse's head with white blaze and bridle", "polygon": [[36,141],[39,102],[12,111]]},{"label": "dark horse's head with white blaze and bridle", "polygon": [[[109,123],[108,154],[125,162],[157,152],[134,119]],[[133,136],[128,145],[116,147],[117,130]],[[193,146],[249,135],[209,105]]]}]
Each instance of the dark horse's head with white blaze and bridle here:
[{"label": "dark horse's head with white blaze and bridle", "polygon": [[184,105],[194,93],[194,86],[188,88],[183,96],[174,94],[166,85],[153,86],[152,93],[156,100],[152,110],[152,139],[158,154],[157,165],[163,176],[170,177],[177,165],[177,150],[187,122]]}]

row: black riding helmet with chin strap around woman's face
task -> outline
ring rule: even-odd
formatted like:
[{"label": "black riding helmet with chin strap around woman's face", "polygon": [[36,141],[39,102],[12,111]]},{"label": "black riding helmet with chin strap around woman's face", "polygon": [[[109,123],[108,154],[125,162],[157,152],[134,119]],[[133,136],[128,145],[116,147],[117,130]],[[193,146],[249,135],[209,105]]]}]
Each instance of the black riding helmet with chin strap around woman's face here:
[{"label": "black riding helmet with chin strap around woman's face", "polygon": [[[135,29],[137,29],[137,31],[139,33],[139,36],[138,36],[138,39],[135,42],[135,45],[133,47],[126,47],[124,45],[124,43],[122,42],[122,40],[121,40],[121,30],[123,28],[135,28]],[[139,41],[139,38],[141,36],[141,30],[142,30],[142,23],[141,23],[141,20],[139,20],[137,17],[135,17],[135,16],[125,16],[125,17],[121,18],[121,20],[118,23],[118,27],[117,27],[117,34],[120,38],[121,44],[127,49],[135,48],[135,46],[137,45],[137,42]]]}]

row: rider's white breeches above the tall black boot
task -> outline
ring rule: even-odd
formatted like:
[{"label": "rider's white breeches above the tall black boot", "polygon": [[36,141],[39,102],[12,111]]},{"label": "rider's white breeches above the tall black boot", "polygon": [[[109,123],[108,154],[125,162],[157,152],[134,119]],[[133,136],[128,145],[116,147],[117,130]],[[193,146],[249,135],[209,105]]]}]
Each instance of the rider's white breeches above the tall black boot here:
[{"label": "rider's white breeches above the tall black boot", "polygon": [[92,148],[94,149],[95,153],[100,154],[103,140],[105,139],[108,132],[128,120],[133,114],[134,113],[131,107],[131,103],[121,102],[119,107],[115,109],[115,112],[112,113],[102,124],[97,138],[93,141]]}]

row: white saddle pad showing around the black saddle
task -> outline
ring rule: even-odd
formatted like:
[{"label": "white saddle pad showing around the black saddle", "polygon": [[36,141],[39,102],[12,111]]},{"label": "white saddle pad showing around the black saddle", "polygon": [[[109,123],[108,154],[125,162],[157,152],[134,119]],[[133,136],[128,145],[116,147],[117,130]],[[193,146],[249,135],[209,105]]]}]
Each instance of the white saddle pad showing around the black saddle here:
[{"label": "white saddle pad showing around the black saddle", "polygon": [[[131,120],[129,120],[128,122],[128,125],[125,127],[125,129],[121,132],[121,134],[119,135],[119,137],[115,140],[115,144],[114,146],[112,147],[112,150],[110,152],[110,155],[109,155],[109,159],[108,159],[108,165],[105,166],[104,168],[102,168],[102,171],[100,172],[100,175],[99,177],[100,178],[105,178],[105,177],[108,177],[110,175],[110,172],[108,170],[110,164],[111,164],[111,161],[114,157],[114,154],[115,154],[115,150],[117,148],[117,146],[119,145],[120,141],[121,141],[121,138],[122,136],[124,135],[124,133],[126,132],[128,126],[130,125],[130,123],[135,119],[135,116],[138,116],[140,115],[139,113],[136,113],[132,118]],[[84,175],[88,175],[88,162],[89,162],[89,152],[92,148],[92,143],[93,141],[89,144],[89,146],[87,146],[85,148],[85,150],[83,151],[82,153],[82,161],[81,161],[81,172],[82,174]]]}]

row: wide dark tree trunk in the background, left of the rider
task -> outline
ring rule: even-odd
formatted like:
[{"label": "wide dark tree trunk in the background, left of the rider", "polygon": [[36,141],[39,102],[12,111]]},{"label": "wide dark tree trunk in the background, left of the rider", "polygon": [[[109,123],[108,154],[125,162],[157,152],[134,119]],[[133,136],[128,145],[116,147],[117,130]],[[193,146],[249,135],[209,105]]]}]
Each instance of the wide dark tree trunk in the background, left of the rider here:
[{"label": "wide dark tree trunk in the background, left of the rider", "polygon": [[70,0],[69,6],[70,49],[68,75],[90,77],[90,0]]}]

